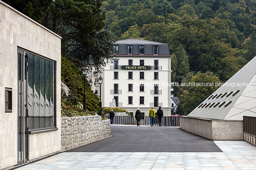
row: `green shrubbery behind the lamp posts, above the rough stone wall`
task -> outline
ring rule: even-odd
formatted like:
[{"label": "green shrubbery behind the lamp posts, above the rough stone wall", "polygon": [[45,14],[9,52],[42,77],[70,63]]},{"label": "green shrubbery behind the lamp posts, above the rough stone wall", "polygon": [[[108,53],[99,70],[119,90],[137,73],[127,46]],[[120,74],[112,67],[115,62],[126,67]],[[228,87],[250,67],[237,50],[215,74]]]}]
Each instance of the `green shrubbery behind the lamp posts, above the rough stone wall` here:
[{"label": "green shrubbery behind the lamp posts, above the rough stone wall", "polygon": [[[83,101],[84,94],[84,75],[77,66],[66,57],[62,56],[61,62],[61,76],[62,81],[70,88],[70,95],[66,96],[66,100],[69,101],[66,105],[78,105]],[[90,111],[99,110],[99,99],[90,89],[90,85],[86,80],[86,109]]]}]

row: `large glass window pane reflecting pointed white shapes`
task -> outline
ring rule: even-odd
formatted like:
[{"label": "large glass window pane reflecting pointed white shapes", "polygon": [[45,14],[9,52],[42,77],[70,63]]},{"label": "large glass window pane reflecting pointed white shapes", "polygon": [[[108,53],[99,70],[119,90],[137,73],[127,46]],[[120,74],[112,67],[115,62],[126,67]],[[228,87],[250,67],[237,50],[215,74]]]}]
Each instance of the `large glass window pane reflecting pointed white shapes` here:
[{"label": "large glass window pane reflecting pointed white shapes", "polygon": [[28,53],[28,128],[54,127],[54,62]]}]

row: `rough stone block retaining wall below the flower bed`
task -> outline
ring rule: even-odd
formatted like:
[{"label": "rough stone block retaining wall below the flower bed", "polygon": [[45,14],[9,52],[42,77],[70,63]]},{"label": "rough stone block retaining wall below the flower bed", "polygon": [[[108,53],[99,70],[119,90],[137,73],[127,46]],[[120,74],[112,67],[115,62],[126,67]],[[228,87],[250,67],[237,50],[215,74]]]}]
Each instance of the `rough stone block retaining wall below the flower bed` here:
[{"label": "rough stone block retaining wall below the flower bed", "polygon": [[101,117],[62,117],[61,150],[70,150],[86,143],[111,136],[110,120]]}]

